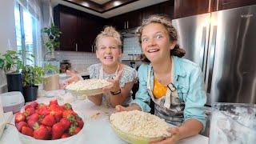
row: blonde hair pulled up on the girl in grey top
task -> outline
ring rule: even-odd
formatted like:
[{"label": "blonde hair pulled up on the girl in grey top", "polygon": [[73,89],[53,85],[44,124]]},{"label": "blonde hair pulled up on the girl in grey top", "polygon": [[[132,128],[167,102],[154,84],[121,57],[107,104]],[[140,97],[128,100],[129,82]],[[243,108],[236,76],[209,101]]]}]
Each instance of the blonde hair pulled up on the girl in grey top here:
[{"label": "blonde hair pulled up on the girl in grey top", "polygon": [[106,37],[112,37],[114,38],[117,43],[118,43],[118,48],[122,48],[122,40],[121,40],[121,35],[118,33],[117,30],[114,29],[113,26],[106,26],[104,30],[101,31],[100,34],[97,35],[95,38],[95,45],[96,48],[98,49],[98,42],[101,38],[106,38]]}]

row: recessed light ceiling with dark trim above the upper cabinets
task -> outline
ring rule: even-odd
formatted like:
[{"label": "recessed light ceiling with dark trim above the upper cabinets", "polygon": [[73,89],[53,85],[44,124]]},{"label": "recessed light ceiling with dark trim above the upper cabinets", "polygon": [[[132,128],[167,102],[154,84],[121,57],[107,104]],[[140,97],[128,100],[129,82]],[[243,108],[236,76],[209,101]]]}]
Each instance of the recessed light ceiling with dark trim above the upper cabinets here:
[{"label": "recessed light ceiling with dark trim above the upper cabinets", "polygon": [[[107,3],[115,2],[116,0],[51,0],[51,3],[52,3],[53,7],[57,6],[58,4],[62,4],[65,6],[70,6],[77,10],[82,10],[86,13],[97,15],[102,18],[110,18],[110,17],[114,17],[119,14],[124,14],[124,13],[130,12],[130,11],[133,11],[133,10],[138,10],[138,9],[141,9],[146,6],[151,6],[151,5],[155,5],[157,3],[166,2],[168,0],[137,0],[137,1],[126,0],[126,2],[128,2],[128,1],[130,1],[130,2],[126,3],[123,6],[117,6],[112,9],[105,10],[105,11],[104,10],[96,11],[96,10],[93,10],[86,6],[82,6],[82,5],[79,5],[78,3],[75,3],[75,2],[82,2],[82,1],[84,1],[84,2],[91,1],[91,2],[95,3],[96,5],[106,5]],[[99,4],[99,2],[101,2],[102,4]]]}]

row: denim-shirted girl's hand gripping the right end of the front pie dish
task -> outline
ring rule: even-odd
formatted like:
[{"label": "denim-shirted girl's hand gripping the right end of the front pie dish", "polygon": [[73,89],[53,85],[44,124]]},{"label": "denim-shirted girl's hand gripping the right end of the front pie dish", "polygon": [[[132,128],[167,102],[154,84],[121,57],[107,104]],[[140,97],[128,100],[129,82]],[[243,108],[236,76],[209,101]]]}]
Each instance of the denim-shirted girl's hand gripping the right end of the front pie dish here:
[{"label": "denim-shirted girl's hand gripping the right end of the front pie dish", "polygon": [[150,143],[151,144],[174,144],[174,143],[178,142],[178,140],[181,138],[178,127],[172,127],[168,130],[168,132],[170,132],[170,134],[171,134],[170,138],[166,138],[162,141],[150,142]]}]

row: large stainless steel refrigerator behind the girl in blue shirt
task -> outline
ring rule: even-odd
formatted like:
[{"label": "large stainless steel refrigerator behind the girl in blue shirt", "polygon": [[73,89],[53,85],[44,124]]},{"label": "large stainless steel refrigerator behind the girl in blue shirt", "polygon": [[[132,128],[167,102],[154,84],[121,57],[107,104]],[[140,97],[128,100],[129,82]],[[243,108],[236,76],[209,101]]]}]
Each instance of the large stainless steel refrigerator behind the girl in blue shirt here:
[{"label": "large stainless steel refrigerator behind the girl in blue shirt", "polygon": [[207,102],[256,103],[256,5],[172,21],[185,58],[205,77]]}]

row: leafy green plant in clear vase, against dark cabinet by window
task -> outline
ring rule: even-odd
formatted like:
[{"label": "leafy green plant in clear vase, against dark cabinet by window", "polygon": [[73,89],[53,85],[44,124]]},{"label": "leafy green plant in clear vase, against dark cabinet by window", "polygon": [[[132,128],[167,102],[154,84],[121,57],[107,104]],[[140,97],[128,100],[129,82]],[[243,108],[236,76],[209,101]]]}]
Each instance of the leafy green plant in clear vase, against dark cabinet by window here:
[{"label": "leafy green plant in clear vase, against dark cabinet by window", "polygon": [[47,36],[44,44],[48,52],[45,54],[44,60],[55,61],[54,50],[60,46],[59,38],[62,33],[53,23],[50,27],[42,28],[41,33]]}]

